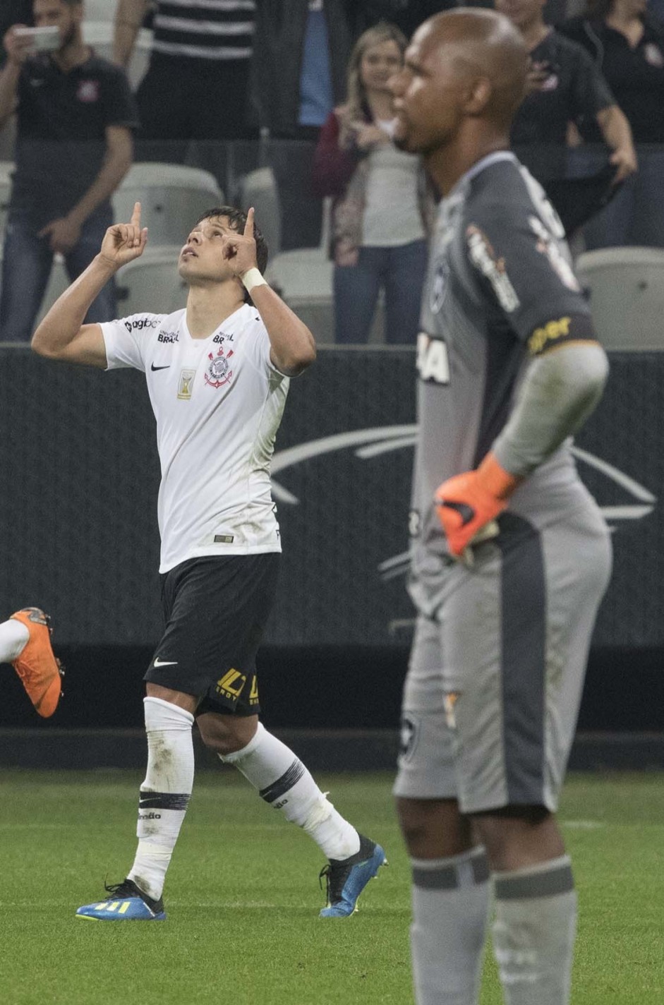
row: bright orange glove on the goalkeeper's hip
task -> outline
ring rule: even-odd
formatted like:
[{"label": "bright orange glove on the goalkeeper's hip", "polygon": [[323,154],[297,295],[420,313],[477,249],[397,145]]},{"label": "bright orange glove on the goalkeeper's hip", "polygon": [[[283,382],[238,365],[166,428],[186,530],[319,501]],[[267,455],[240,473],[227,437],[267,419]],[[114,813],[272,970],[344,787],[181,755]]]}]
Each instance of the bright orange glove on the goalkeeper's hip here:
[{"label": "bright orange glove on the goalkeeper's hip", "polygon": [[505,471],[489,451],[476,470],[455,474],[438,486],[436,512],[455,558],[466,558],[468,545],[497,535],[495,518],[520,480]]}]

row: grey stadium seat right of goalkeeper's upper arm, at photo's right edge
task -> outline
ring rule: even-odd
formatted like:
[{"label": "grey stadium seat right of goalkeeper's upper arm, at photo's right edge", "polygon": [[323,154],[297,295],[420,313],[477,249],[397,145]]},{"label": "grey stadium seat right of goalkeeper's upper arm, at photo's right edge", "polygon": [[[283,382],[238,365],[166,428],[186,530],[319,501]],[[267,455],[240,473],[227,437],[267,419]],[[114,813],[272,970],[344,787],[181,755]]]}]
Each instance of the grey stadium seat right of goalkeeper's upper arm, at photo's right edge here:
[{"label": "grey stadium seat right of goalkeeper's upper arm, at photo's right edge", "polygon": [[579,255],[593,321],[606,349],[664,349],[664,249],[601,248]]}]

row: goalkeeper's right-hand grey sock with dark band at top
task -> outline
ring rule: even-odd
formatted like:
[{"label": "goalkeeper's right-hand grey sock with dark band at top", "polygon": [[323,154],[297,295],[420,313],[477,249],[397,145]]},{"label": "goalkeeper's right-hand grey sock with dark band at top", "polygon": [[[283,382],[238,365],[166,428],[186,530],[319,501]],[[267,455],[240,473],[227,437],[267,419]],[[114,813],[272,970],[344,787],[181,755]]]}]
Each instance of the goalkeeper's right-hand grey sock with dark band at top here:
[{"label": "goalkeeper's right-hand grey sock with dark band at top", "polygon": [[568,855],[494,872],[493,947],[506,1005],[568,1005],[577,894]]}]

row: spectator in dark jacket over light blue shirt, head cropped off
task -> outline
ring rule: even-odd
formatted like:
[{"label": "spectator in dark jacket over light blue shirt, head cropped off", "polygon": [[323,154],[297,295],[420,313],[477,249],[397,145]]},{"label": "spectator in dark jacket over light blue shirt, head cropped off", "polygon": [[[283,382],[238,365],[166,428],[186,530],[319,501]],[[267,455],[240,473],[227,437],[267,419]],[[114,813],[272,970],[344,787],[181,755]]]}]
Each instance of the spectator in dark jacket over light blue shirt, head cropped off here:
[{"label": "spectator in dark jacket over light blue shirt, head cropped off", "polygon": [[270,156],[283,250],[320,243],[313,153],[320,127],[344,96],[350,51],[346,0],[259,3],[251,97],[261,135],[276,141]]}]

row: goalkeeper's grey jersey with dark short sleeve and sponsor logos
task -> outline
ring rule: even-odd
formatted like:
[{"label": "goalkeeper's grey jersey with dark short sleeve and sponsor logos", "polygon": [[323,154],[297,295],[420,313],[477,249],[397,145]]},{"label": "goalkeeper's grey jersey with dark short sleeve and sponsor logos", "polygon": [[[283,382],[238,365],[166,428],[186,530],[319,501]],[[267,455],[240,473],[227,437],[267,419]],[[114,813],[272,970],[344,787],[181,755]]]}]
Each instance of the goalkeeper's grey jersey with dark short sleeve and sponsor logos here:
[{"label": "goalkeeper's grey jersey with dark short sleeve and sponsor logos", "polygon": [[[577,341],[580,322],[582,338],[593,338],[589,316],[538,183],[507,151],[478,162],[440,205],[422,301],[410,533],[411,593],[425,613],[448,565],[436,488],[491,448],[532,357]],[[536,529],[580,507],[602,522],[570,447],[566,440],[510,499],[508,510]]]}]

